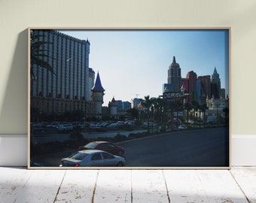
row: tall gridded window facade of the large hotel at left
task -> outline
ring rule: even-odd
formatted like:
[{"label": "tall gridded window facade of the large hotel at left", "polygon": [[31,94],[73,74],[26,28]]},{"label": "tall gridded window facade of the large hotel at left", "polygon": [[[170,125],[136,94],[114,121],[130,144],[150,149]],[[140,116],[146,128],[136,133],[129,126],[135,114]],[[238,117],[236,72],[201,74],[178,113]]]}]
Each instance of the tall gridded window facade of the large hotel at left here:
[{"label": "tall gridded window facade of the large hotel at left", "polygon": [[[85,53],[87,47],[79,41],[72,41],[69,38],[59,38],[55,32],[54,35],[50,32],[43,32],[44,36],[40,38],[43,41],[49,41],[47,44],[47,55],[44,57],[49,64],[53,66],[53,71],[56,74],[51,74],[44,68],[33,66],[34,73],[36,72],[36,81],[33,81],[32,95],[50,94],[53,97],[65,98],[69,95],[70,98],[88,99],[87,81],[89,80],[89,70],[86,62],[89,59],[89,52]],[[79,54],[78,54],[79,53]]]}]

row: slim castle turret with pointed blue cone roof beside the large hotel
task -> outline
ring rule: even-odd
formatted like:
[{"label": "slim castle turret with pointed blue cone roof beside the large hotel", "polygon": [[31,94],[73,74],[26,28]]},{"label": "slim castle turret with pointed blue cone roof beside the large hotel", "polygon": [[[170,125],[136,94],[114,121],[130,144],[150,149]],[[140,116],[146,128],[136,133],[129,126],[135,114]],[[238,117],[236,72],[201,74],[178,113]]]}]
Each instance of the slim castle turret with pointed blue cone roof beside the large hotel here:
[{"label": "slim castle turret with pointed blue cone roof beside the large hotel", "polygon": [[99,72],[98,72],[92,92],[93,92],[93,102],[95,102],[95,105],[96,105],[94,114],[96,118],[99,120],[102,119],[102,104],[103,104],[104,91],[105,89],[102,87],[102,82],[100,80]]}]

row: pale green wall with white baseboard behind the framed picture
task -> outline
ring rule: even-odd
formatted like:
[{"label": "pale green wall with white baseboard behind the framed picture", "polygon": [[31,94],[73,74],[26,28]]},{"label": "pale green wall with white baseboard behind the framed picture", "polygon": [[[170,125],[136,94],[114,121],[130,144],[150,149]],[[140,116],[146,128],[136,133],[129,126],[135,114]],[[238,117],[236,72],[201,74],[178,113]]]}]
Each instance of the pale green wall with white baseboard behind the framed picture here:
[{"label": "pale green wall with white baseboard behind the framed picture", "polygon": [[26,164],[28,27],[216,26],[231,27],[232,164],[256,165],[255,11],[254,0],[1,0],[0,165]]}]

